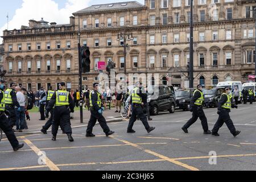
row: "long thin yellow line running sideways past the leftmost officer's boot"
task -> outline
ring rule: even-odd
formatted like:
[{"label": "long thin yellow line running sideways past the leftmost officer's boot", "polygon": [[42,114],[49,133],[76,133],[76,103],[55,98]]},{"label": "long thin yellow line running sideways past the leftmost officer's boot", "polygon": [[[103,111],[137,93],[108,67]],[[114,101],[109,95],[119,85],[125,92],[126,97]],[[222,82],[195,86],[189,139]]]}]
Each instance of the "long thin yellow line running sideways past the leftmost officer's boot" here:
[{"label": "long thin yellow line running sideways past the leftmost officer's boot", "polygon": [[[31,140],[30,140],[31,141]],[[167,143],[136,143],[138,145],[146,145],[146,144],[167,144]],[[72,148],[93,148],[93,147],[116,147],[116,146],[129,146],[130,144],[109,144],[109,145],[101,145],[101,146],[77,146],[77,147],[55,147],[55,148],[39,148],[39,150],[57,150],[57,149],[72,149]],[[19,150],[22,151],[32,151],[28,150]],[[1,153],[9,153],[13,151],[0,151]]]}]

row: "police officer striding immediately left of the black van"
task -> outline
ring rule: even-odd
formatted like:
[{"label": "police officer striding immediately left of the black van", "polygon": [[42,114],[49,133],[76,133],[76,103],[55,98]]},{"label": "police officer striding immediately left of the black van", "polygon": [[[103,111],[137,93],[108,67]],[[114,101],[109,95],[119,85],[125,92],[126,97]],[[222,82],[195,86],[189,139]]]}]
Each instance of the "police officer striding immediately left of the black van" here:
[{"label": "police officer striding immediately left of the black van", "polygon": [[[143,90],[144,92],[144,90]],[[143,113],[143,97],[142,92],[142,84],[141,82],[137,82],[136,87],[131,91],[131,118],[129,121],[129,125],[127,128],[127,133],[135,133],[133,130],[134,122],[137,120],[137,117],[142,121],[145,129],[147,130],[147,133],[150,133],[151,131],[155,130],[155,127],[150,127],[147,122],[147,117]]]}]

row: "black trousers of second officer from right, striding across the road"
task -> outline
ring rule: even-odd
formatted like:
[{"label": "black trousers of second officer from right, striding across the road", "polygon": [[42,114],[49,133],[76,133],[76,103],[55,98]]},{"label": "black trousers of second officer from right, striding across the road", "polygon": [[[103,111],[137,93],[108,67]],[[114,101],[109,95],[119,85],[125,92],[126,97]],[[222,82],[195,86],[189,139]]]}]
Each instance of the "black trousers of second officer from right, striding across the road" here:
[{"label": "black trousers of second officer from right, striding across the road", "polygon": [[198,118],[201,120],[203,130],[208,131],[207,117],[205,117],[203,106],[197,106],[197,105],[193,107],[192,118],[189,119],[189,121],[185,123],[183,127],[185,129],[188,129],[191,125],[193,125],[193,123],[197,121]]}]

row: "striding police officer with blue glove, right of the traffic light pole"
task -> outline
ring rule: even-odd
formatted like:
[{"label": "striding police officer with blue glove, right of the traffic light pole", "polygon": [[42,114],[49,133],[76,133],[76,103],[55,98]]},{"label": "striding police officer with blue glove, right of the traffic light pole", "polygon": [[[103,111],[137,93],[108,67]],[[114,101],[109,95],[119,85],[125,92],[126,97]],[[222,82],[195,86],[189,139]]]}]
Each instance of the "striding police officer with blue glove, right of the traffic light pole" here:
[{"label": "striding police officer with blue glove, right of the traffic light pole", "polygon": [[90,120],[88,122],[86,137],[95,137],[92,133],[93,127],[95,126],[97,120],[100,123],[101,128],[103,129],[106,137],[114,134],[114,131],[110,131],[106,119],[103,116],[104,107],[102,106],[101,93],[98,92],[98,83],[93,84],[93,90],[89,95],[90,100]]}]

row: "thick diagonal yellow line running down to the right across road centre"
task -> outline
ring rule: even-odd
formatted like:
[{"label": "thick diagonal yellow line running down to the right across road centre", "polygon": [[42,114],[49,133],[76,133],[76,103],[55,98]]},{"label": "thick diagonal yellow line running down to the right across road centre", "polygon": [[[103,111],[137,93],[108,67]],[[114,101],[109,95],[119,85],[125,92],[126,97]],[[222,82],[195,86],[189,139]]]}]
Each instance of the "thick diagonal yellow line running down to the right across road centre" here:
[{"label": "thick diagonal yellow line running down to the right across road centre", "polygon": [[123,143],[126,143],[126,144],[130,144],[131,146],[136,147],[136,148],[139,148],[140,150],[143,150],[144,152],[147,152],[148,154],[152,154],[152,155],[154,155],[154,156],[157,156],[158,158],[164,159],[164,160],[166,160],[166,161],[168,161],[168,162],[171,162],[171,163],[174,163],[174,164],[176,164],[176,165],[178,165],[178,166],[182,166],[182,167],[187,168],[187,169],[190,169],[190,170],[192,170],[192,171],[199,171],[199,169],[197,169],[197,168],[195,168],[195,167],[188,166],[187,164],[184,164],[184,163],[181,163],[181,162],[176,161],[176,160],[174,160],[174,159],[168,158],[167,156],[160,155],[160,154],[158,154],[158,153],[156,153],[156,152],[153,152],[153,151],[144,149],[143,147],[138,146],[138,145],[135,144],[135,143],[131,143],[131,142],[128,142],[128,141],[126,141],[126,140],[117,139],[117,138],[114,138],[113,136],[110,136],[110,137],[113,138],[113,139],[115,139],[115,140],[118,140],[118,141],[120,141],[120,142],[123,142]]}]

